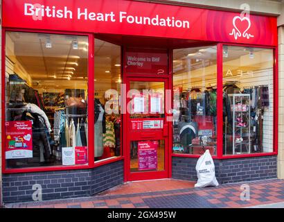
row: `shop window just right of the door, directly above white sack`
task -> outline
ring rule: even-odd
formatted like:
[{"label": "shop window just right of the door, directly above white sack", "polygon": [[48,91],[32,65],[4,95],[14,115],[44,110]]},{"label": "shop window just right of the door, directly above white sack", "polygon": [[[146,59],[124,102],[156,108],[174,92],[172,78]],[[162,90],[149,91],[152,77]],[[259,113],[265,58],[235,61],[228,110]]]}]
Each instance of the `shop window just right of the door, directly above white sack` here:
[{"label": "shop window just right of the door, directly above white sack", "polygon": [[216,154],[216,55],[216,46],[173,51],[173,153]]}]

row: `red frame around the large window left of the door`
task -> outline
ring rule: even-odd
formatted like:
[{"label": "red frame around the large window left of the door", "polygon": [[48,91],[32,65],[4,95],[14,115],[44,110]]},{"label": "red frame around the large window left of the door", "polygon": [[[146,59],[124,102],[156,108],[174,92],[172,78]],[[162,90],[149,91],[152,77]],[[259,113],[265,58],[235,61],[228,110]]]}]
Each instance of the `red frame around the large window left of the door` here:
[{"label": "red frame around the large window left of the door", "polygon": [[[88,37],[88,89],[87,89],[87,98],[88,98],[88,132],[89,135],[94,135],[94,42],[95,35],[94,33],[78,33],[78,32],[68,32],[68,31],[47,31],[47,30],[37,30],[37,29],[26,29],[26,28],[2,28],[2,40],[1,40],[1,56],[2,58],[6,58],[6,32],[23,32],[23,33],[48,33],[48,34],[57,34],[57,35],[81,35]],[[1,63],[1,115],[2,115],[2,123],[1,123],[1,140],[2,140],[2,173],[27,173],[27,172],[39,172],[39,171],[64,171],[64,170],[73,170],[73,169],[92,169],[94,167],[99,167],[103,164],[109,164],[111,162],[116,162],[118,160],[122,160],[123,156],[109,158],[106,160],[102,160],[100,162],[94,162],[94,137],[88,137],[88,164],[86,165],[74,165],[74,166],[48,166],[48,167],[25,167],[19,169],[6,169],[6,155],[5,155],[5,121],[6,121],[6,80],[5,80],[5,72],[6,72],[6,60],[2,59]],[[121,149],[122,150],[122,149]]]}]

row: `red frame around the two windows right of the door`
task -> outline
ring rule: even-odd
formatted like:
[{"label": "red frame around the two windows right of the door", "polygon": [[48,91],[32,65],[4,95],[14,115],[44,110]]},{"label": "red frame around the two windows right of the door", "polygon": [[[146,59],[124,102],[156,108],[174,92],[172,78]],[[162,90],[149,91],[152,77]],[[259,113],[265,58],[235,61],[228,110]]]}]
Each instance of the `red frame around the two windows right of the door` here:
[{"label": "red frame around the two windows right of the door", "polygon": [[[270,153],[249,153],[249,154],[238,154],[238,155],[223,155],[223,127],[222,119],[223,112],[218,112],[217,119],[217,155],[213,155],[213,159],[235,159],[235,158],[245,158],[245,157],[259,157],[259,156],[270,156],[278,155],[278,46],[263,46],[254,44],[232,44],[232,43],[218,43],[217,44],[217,110],[223,110],[223,46],[247,46],[256,47],[263,49],[272,49],[274,62],[273,62],[273,152]],[[172,66],[172,64],[171,64]],[[173,84],[172,84],[173,86]],[[171,129],[172,130],[172,129]],[[189,157],[198,158],[200,155],[190,155],[190,154],[177,154],[172,153],[172,157]]]}]

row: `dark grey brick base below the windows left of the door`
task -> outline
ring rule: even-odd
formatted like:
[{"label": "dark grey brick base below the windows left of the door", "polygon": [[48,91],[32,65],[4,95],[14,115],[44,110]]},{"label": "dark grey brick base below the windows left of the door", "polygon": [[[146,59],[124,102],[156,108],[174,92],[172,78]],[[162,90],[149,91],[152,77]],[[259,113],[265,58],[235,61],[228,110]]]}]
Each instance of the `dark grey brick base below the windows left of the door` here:
[{"label": "dark grey brick base below the windows left of the door", "polygon": [[95,169],[3,174],[3,202],[32,201],[33,185],[42,200],[91,196],[123,183],[123,160]]}]

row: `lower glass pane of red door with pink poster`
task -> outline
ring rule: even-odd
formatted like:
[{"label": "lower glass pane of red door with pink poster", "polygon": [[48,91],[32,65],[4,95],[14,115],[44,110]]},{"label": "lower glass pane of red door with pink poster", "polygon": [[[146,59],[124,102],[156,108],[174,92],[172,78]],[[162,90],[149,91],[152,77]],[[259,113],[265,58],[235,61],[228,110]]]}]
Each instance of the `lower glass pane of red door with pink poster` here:
[{"label": "lower glass pane of red door with pink poster", "polygon": [[130,142],[130,171],[163,171],[165,169],[164,140]]}]

